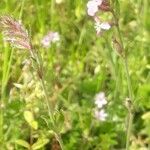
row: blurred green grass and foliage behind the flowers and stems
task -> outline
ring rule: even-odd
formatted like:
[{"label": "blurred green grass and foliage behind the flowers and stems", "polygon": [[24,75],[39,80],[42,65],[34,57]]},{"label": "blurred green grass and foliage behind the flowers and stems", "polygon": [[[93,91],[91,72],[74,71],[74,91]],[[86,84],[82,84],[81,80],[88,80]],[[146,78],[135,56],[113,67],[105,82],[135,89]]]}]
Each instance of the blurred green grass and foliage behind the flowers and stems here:
[{"label": "blurred green grass and foliage behind the flowers and stems", "polygon": [[[112,27],[103,36],[97,36],[86,4],[87,0],[1,0],[0,14],[22,21],[43,58],[45,82],[57,110],[55,116],[65,149],[122,150],[126,141],[124,102],[128,90],[123,62],[112,46],[116,31]],[[150,1],[120,0],[117,7],[134,91],[130,148],[149,150]],[[103,17],[112,19],[109,13]],[[41,40],[49,31],[58,32],[60,41],[44,48]],[[40,83],[31,64],[26,63],[30,59],[28,51],[12,49],[2,35],[0,43],[3,149],[26,149],[31,135],[33,143],[41,140],[37,149],[59,149],[47,127],[49,118]],[[103,122],[93,115],[94,97],[101,91],[108,100],[108,117]],[[32,110],[37,127],[28,123],[26,110]]]}]

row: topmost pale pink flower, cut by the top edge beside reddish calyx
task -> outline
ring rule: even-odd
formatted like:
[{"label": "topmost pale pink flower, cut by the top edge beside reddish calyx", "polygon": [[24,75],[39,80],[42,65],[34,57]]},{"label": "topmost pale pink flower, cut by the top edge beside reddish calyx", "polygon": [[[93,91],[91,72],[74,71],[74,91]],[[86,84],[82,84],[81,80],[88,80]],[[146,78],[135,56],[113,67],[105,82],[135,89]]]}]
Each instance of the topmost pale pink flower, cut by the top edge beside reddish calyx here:
[{"label": "topmost pale pink flower, cut by the top edge beside reddish calyx", "polygon": [[89,16],[95,16],[98,11],[98,6],[102,4],[103,0],[90,0],[87,3],[87,13]]}]

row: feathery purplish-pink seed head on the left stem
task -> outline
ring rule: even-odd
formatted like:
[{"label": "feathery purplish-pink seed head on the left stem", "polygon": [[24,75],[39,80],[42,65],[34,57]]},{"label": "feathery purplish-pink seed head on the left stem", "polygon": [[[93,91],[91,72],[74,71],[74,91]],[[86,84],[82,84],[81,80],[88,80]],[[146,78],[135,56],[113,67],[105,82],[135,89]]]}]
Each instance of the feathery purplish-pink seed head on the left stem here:
[{"label": "feathery purplish-pink seed head on the left stem", "polygon": [[0,26],[4,40],[9,42],[13,47],[32,49],[28,32],[21,22],[16,21],[10,16],[2,16],[0,17]]}]

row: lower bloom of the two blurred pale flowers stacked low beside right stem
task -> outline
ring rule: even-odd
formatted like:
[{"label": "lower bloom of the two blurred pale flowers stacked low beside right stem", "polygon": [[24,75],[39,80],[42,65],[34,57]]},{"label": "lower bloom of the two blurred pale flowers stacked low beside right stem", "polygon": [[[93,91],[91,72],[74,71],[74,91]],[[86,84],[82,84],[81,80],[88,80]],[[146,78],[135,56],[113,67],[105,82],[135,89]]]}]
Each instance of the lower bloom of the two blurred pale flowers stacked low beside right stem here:
[{"label": "lower bloom of the two blurred pale flowers stacked low beside right stem", "polygon": [[104,109],[101,109],[101,110],[95,110],[95,117],[98,119],[98,120],[101,120],[101,121],[105,121],[106,120],[106,117],[108,116],[108,114],[104,111]]}]

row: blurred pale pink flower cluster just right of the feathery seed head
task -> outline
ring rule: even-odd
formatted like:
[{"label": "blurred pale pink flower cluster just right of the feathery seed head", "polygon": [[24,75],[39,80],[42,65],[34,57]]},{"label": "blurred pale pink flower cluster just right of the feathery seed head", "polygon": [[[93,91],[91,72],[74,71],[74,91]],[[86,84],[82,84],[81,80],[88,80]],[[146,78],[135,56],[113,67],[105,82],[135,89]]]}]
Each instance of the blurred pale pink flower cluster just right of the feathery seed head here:
[{"label": "blurred pale pink flower cluster just right of the feathery seed head", "polygon": [[51,43],[56,43],[60,41],[60,36],[58,32],[49,32],[46,36],[43,37],[41,44],[43,47],[50,47]]}]

